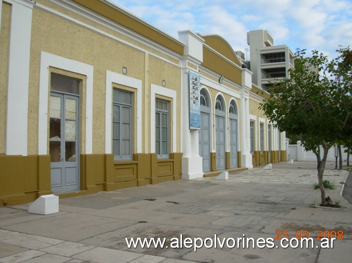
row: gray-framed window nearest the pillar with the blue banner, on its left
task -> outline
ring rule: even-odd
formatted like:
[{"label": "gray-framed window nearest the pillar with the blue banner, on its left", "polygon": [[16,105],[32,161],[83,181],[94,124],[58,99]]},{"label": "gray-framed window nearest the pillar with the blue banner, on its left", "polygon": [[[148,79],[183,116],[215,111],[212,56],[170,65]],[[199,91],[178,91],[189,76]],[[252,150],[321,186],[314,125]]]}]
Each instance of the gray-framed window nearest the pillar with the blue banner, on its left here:
[{"label": "gray-framed window nearest the pillar with the blue banner, on its left", "polygon": [[169,102],[155,101],[155,150],[158,158],[169,158]]}]

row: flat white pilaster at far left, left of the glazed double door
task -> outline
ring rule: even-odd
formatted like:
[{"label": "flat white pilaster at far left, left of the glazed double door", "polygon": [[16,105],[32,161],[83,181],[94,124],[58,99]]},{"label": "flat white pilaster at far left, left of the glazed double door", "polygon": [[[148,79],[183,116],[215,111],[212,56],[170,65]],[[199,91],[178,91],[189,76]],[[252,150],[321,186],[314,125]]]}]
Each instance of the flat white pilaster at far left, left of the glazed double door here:
[{"label": "flat white pilaster at far left, left of the glazed double door", "polygon": [[8,54],[5,154],[26,156],[33,3],[13,0],[6,2],[12,6]]}]

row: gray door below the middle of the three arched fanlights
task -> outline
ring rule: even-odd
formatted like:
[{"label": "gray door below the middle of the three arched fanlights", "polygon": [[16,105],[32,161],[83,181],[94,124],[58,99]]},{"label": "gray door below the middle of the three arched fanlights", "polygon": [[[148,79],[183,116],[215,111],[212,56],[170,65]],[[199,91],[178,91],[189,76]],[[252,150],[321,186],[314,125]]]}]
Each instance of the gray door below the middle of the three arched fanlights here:
[{"label": "gray door below the middle of the three arched fanlights", "polygon": [[215,116],[216,169],[225,170],[225,118]]}]

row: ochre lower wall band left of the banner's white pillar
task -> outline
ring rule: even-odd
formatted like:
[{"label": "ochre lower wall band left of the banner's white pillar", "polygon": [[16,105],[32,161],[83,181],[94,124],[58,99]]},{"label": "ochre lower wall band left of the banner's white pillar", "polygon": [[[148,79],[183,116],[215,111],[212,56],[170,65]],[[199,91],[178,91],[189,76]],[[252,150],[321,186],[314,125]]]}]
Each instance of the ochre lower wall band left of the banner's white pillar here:
[{"label": "ochre lower wall band left of the banner's white pillar", "polygon": [[[156,154],[134,154],[131,161],[114,161],[112,154],[80,155],[80,191],[60,193],[60,198],[143,186],[181,178],[181,153],[170,159]],[[52,194],[50,156],[0,154],[0,207],[33,202]]]}]

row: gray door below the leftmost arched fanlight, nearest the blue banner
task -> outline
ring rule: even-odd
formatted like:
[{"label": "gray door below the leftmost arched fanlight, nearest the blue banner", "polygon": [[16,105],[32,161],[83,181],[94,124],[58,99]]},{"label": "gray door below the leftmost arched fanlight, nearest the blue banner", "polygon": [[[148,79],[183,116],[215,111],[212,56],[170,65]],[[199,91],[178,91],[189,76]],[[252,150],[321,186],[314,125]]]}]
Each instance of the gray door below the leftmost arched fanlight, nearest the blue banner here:
[{"label": "gray door below the leftmost arched fanlight, nearest the blue banner", "polygon": [[199,131],[199,155],[203,159],[203,172],[210,171],[210,115],[201,112],[201,129]]}]

